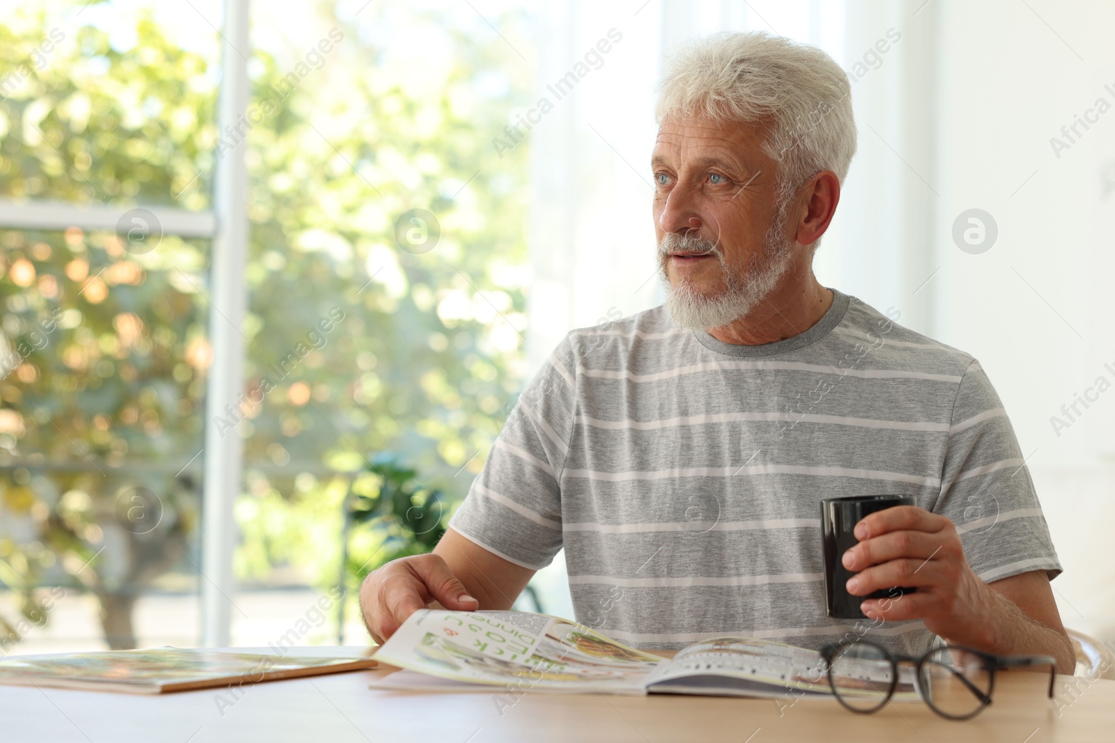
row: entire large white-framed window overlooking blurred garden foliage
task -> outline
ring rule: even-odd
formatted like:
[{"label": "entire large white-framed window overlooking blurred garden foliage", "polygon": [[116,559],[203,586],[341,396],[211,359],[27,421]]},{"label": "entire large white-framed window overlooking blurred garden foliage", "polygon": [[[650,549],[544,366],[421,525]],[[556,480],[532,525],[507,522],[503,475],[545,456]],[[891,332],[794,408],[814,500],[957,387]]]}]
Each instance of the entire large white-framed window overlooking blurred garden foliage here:
[{"label": "entire large white-framed window overlooking blurred garden foliage", "polygon": [[[343,506],[387,461],[415,471],[414,504],[350,529],[348,587],[428,548],[524,374],[526,222],[494,215],[524,214],[529,150],[491,147],[525,100],[514,51],[467,7],[256,4],[244,43],[195,4],[25,3],[4,27],[31,60],[0,102],[3,340],[29,350],[0,387],[0,617],[20,652],[192,644],[200,615],[209,642],[274,639],[340,580]],[[493,19],[514,36],[527,13]],[[244,115],[219,120],[237,69]],[[240,323],[220,295],[236,158]],[[235,492],[206,487],[233,450]],[[206,518],[230,495],[234,529]]]}]

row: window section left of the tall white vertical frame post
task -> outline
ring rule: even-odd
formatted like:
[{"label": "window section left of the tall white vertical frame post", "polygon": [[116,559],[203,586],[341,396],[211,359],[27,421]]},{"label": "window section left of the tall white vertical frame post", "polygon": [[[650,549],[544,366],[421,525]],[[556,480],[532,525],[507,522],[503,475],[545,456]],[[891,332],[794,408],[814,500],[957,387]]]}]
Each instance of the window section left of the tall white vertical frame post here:
[{"label": "window section left of the tall white vertical frame post", "polygon": [[4,653],[198,635],[216,35],[108,10],[0,26]]}]

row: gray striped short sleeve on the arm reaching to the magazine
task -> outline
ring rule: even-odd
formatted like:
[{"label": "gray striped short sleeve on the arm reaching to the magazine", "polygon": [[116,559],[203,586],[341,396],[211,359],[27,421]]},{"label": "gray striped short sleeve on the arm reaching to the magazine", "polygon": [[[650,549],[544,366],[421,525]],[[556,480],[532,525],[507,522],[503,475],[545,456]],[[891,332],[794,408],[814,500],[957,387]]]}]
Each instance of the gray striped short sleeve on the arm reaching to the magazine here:
[{"label": "gray striped short sleeve on the arm reaching to the magazine", "polygon": [[562,548],[559,480],[573,427],[575,372],[566,336],[520,395],[449,520],[471,541],[534,570]]}]

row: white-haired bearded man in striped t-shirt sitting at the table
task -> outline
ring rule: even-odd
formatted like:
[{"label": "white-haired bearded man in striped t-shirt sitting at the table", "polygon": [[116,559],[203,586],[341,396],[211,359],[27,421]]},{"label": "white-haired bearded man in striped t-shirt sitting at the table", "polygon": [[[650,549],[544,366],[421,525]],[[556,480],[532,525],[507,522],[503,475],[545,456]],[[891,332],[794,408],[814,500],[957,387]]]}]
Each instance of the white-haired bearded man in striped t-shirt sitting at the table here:
[{"label": "white-haired bearded man in striped t-shirt sitting at the table", "polygon": [[[666,305],[565,338],[434,553],[368,576],[372,636],[430,602],[510,608],[564,548],[578,619],[639,647],[938,636],[1072,673],[1060,564],[983,370],[813,275],[855,151],[843,70],[712,37],[671,61],[657,118]],[[875,493],[918,506],[857,525],[849,590],[918,590],[831,619],[818,501]]]}]

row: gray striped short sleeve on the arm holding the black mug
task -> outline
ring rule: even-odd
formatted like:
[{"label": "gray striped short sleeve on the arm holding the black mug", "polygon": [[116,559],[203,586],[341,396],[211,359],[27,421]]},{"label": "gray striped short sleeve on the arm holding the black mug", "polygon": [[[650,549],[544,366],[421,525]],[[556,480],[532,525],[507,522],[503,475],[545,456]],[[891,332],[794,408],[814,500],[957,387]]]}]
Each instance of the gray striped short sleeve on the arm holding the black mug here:
[{"label": "gray striped short sleeve on the arm holding the black mug", "polygon": [[985,583],[1061,571],[1014,427],[976,361],[957,390],[933,511],[956,524],[968,564]]}]

